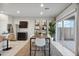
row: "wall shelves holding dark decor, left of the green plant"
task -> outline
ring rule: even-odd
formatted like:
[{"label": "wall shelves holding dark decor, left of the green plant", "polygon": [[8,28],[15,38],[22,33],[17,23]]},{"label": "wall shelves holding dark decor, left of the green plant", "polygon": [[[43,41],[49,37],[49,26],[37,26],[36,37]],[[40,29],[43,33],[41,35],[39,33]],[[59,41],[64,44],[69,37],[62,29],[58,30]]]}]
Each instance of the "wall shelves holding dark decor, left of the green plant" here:
[{"label": "wall shelves holding dark decor, left of the green plant", "polygon": [[43,33],[43,35],[47,34],[47,20],[35,20],[35,33]]}]

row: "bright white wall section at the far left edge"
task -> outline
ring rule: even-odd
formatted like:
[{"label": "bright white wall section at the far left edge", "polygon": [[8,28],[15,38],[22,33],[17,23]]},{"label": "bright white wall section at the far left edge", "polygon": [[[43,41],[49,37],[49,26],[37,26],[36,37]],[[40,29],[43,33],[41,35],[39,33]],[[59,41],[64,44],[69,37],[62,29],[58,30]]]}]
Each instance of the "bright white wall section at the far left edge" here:
[{"label": "bright white wall section at the far left edge", "polygon": [[0,14],[0,34],[7,32],[8,16]]}]

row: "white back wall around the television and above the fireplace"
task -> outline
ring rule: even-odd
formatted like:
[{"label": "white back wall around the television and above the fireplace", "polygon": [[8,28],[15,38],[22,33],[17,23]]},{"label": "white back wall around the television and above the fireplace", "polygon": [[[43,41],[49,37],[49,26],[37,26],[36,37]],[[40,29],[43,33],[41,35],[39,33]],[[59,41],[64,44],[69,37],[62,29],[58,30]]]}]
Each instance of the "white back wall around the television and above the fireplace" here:
[{"label": "white back wall around the television and above the fireplace", "polygon": [[[16,34],[16,31],[20,31],[20,32],[28,32],[28,39],[30,37],[32,37],[34,35],[34,27],[35,27],[35,20],[40,20],[41,18],[39,17],[11,17],[9,16],[9,23],[13,24],[13,29],[14,29],[14,33]],[[53,18],[43,18],[42,20],[48,20],[47,24],[49,24],[49,22],[51,20],[53,20]],[[16,24],[19,25],[19,21],[28,21],[28,28],[27,29],[17,29]]]}]

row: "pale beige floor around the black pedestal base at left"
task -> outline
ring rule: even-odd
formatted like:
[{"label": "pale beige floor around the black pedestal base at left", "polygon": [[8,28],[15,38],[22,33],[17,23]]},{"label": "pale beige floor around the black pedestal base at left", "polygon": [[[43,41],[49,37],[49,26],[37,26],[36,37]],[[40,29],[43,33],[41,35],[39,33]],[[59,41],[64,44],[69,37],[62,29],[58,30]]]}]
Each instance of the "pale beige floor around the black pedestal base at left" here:
[{"label": "pale beige floor around the black pedestal base at left", "polygon": [[[8,51],[0,51],[1,56],[14,56],[18,51],[20,51],[21,48],[24,47],[24,45],[27,44],[29,40],[26,41],[10,41],[10,46],[12,49]],[[0,43],[1,44],[1,43]]]}]

